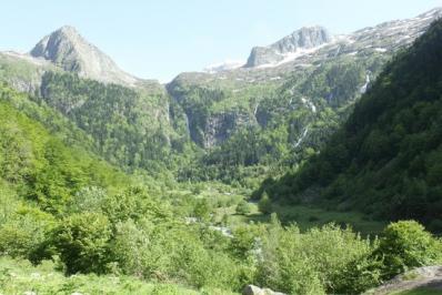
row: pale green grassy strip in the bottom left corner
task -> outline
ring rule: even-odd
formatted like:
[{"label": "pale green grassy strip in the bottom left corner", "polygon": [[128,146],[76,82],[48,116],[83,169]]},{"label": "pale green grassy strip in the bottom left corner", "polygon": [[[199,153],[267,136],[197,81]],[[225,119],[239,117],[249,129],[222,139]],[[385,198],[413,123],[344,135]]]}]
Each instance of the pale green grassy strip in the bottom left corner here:
[{"label": "pale green grassy strip in the bottom left corner", "polygon": [[[197,295],[198,292],[175,284],[145,283],[124,275],[76,275],[67,277],[56,263],[44,261],[38,266],[27,261],[0,258],[0,291],[3,294],[158,294]],[[229,294],[213,291],[211,294]]]}]

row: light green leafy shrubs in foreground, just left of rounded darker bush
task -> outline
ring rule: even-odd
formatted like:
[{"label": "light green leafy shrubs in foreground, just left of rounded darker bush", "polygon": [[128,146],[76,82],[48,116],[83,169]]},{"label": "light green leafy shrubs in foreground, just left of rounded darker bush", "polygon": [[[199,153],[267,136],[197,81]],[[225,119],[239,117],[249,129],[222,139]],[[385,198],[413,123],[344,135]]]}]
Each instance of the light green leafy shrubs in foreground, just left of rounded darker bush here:
[{"label": "light green leafy shrubs in foreground, just left of rounded darker bush", "polygon": [[294,225],[284,230],[273,216],[262,240],[259,283],[290,294],[333,293],[339,274],[371,250],[349,228],[325,225],[301,234]]}]

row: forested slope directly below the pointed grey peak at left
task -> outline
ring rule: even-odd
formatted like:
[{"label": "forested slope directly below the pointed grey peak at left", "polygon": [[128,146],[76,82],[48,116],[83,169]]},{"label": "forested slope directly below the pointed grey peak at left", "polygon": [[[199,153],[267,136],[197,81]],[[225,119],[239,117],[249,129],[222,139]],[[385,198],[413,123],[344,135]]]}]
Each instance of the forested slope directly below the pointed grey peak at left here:
[{"label": "forested slope directly below the pointed grey peak at left", "polygon": [[34,100],[70,119],[93,139],[101,156],[124,170],[172,170],[193,153],[188,138],[169,124],[169,100],[161,89],[133,90],[47,72]]}]

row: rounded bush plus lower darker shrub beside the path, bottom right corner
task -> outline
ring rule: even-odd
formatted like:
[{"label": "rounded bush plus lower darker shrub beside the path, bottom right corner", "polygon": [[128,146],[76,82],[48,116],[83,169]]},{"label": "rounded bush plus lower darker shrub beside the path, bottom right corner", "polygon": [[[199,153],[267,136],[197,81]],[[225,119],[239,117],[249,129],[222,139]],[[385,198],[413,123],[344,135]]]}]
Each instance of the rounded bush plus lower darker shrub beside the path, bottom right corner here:
[{"label": "rounded bush plus lower darker shrub beside the path, bottom right corner", "polygon": [[336,293],[359,294],[414,267],[442,263],[442,243],[415,221],[391,223],[371,254],[350,262],[336,277]]}]

